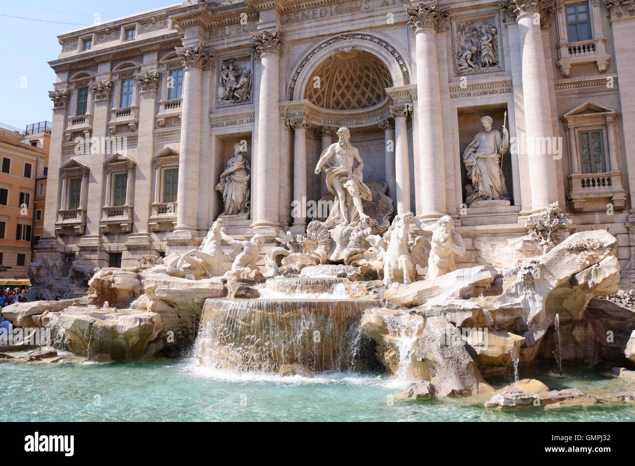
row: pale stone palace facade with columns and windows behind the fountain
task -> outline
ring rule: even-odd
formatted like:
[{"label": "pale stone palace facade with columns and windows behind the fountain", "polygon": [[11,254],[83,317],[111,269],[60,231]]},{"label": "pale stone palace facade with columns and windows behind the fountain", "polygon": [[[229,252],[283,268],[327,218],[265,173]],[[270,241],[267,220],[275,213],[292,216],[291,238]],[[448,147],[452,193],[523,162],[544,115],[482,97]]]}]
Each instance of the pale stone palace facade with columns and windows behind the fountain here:
[{"label": "pale stone palace facade with columns and windows behind the fountain", "polygon": [[[495,263],[559,202],[572,231],[617,236],[624,266],[633,31],[633,0],[191,0],[62,34],[34,265],[184,252],[221,215],[266,250],[316,217],[314,168],[347,127],[364,181],[385,183],[395,213],[450,215],[464,264]],[[492,198],[464,160],[483,116],[509,133]]]}]

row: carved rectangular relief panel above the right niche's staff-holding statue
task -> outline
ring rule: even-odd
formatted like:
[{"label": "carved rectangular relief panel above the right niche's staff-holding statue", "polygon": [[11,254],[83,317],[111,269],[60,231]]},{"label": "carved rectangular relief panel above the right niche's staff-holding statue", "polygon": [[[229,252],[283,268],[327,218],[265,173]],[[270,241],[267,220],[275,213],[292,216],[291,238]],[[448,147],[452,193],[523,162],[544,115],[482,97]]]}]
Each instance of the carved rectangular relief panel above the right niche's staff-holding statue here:
[{"label": "carved rectangular relief panel above the right niche's staff-holding statue", "polygon": [[455,58],[458,72],[498,66],[498,31],[490,21],[483,20],[478,27],[474,22],[457,26]]}]

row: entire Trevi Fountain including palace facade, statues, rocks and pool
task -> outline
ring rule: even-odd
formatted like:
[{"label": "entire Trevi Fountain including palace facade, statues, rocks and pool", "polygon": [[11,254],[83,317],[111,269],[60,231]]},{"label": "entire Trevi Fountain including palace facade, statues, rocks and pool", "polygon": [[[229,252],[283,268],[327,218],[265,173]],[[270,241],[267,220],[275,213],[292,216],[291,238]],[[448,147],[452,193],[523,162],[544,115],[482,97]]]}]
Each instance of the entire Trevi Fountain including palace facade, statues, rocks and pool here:
[{"label": "entire Trevi Fountain including palace facade, statues, rocks and pool", "polygon": [[635,421],[634,20],[186,0],[61,34],[0,420]]}]

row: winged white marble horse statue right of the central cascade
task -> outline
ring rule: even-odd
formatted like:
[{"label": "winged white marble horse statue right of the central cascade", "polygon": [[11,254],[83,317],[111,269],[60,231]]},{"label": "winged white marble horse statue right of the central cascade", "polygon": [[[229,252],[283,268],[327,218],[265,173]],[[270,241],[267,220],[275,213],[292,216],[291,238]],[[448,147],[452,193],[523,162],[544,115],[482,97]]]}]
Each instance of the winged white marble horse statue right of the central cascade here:
[{"label": "winged white marble horse statue right of the central cascade", "polygon": [[411,239],[413,226],[424,228],[412,212],[400,214],[392,220],[382,240],[371,238],[370,242],[381,250],[384,261],[384,285],[393,282],[410,284],[417,278],[417,264],[428,261],[430,243],[423,236]]}]

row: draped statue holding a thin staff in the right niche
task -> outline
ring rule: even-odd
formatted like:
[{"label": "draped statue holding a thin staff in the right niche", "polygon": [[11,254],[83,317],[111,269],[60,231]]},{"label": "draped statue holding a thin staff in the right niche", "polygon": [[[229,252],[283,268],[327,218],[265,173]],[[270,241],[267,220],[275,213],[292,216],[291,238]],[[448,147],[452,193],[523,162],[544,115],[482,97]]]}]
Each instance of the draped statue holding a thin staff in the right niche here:
[{"label": "draped statue holding a thin staff in the right niche", "polygon": [[481,123],[484,130],[474,136],[463,153],[465,170],[472,180],[471,186],[465,187],[467,205],[480,200],[511,199],[501,170],[502,156],[509,149],[509,133],[505,126],[502,135],[493,129],[491,116],[483,116]]}]

